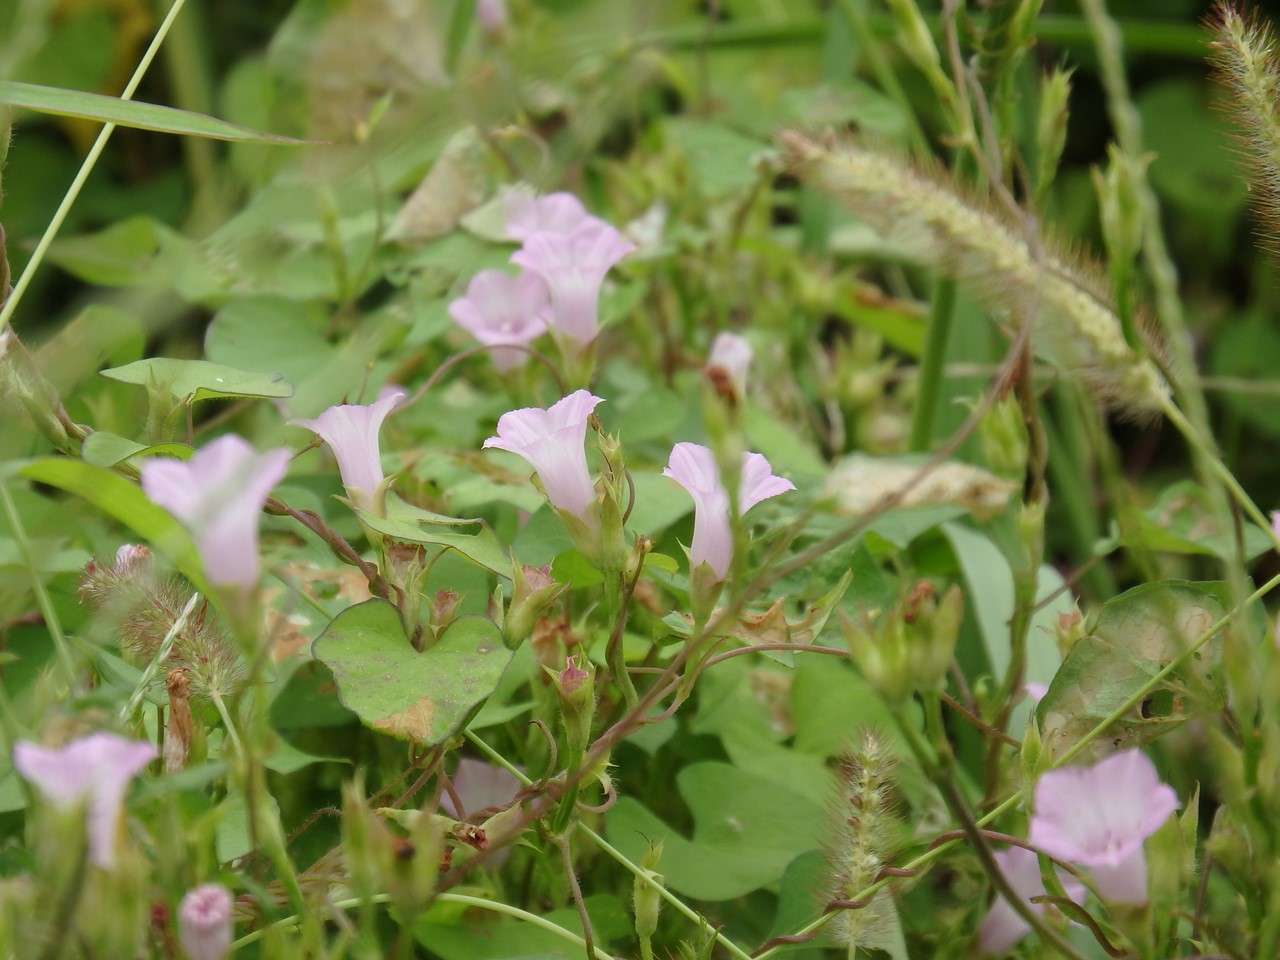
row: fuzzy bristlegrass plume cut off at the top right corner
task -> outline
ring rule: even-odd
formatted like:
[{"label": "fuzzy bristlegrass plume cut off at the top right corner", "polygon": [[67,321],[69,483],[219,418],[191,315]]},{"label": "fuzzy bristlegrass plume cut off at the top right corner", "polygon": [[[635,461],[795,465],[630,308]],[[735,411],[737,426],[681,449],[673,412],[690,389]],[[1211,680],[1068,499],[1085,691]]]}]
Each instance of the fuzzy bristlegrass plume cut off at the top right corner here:
[{"label": "fuzzy bristlegrass plume cut off at the top right corner", "polygon": [[1240,152],[1249,186],[1258,198],[1265,242],[1280,257],[1280,56],[1271,26],[1244,18],[1219,3],[1210,26],[1215,40],[1210,63],[1215,78],[1228,88],[1228,108],[1240,125]]}]

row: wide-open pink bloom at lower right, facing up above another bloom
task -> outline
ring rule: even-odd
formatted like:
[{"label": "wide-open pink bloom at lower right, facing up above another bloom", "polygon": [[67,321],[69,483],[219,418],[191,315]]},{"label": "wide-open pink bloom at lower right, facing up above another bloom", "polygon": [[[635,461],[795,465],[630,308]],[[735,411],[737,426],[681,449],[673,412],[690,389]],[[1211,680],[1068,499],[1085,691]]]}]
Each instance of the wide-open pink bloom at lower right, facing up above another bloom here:
[{"label": "wide-open pink bloom at lower right, facing up above another bloom", "polygon": [[1147,902],[1142,844],[1178,806],[1146,754],[1125,750],[1092,767],[1043,773],[1029,840],[1059,860],[1088,867],[1103,899],[1140,905]]}]

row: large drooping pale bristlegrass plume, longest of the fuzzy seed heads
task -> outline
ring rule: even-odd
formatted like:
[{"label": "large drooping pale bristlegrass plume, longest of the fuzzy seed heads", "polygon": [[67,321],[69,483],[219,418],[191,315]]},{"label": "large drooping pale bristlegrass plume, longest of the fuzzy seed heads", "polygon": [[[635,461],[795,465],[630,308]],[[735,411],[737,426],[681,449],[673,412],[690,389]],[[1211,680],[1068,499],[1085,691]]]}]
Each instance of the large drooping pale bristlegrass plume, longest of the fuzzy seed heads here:
[{"label": "large drooping pale bristlegrass plume, longest of the fuzzy seed heads", "polygon": [[988,310],[1015,324],[1030,314],[1036,353],[1080,376],[1101,403],[1134,419],[1164,408],[1169,385],[1125,340],[1096,266],[1050,250],[1037,256],[1020,225],[964,196],[942,170],[795,132],[782,134],[782,146],[801,179],[932,261]]}]

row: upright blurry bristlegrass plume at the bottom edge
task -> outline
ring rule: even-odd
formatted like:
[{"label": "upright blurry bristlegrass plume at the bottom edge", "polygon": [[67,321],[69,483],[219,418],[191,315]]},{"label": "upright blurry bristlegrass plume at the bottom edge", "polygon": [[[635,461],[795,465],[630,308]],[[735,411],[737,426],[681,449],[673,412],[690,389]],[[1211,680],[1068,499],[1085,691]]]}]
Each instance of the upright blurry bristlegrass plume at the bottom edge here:
[{"label": "upright blurry bristlegrass plume at the bottom edge", "polygon": [[[899,826],[893,801],[896,763],[897,758],[873,731],[864,731],[841,758],[836,772],[838,794],[831,805],[832,826],[826,845],[831,873],[823,893],[831,901],[858,897],[876,883],[892,854],[893,832]],[[850,956],[859,948],[881,946],[896,922],[888,906],[890,893],[883,890],[865,906],[837,906],[828,931],[849,947]]]}]

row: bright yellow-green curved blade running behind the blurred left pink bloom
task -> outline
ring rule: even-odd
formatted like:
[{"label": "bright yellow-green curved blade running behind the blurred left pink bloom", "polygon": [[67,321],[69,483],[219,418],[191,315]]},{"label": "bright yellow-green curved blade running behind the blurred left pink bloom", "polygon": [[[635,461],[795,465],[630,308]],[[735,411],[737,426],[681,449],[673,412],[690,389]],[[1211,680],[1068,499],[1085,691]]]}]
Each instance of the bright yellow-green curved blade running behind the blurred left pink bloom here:
[{"label": "bright yellow-green curved blade running behind the blurred left pink bloom", "polygon": [[37,460],[18,474],[84,498],[168,557],[200,593],[205,595],[211,593],[205,581],[200,552],[187,531],[168,511],[148,500],[138,486],[123,476],[105,467],[65,457]]}]

